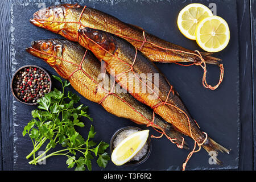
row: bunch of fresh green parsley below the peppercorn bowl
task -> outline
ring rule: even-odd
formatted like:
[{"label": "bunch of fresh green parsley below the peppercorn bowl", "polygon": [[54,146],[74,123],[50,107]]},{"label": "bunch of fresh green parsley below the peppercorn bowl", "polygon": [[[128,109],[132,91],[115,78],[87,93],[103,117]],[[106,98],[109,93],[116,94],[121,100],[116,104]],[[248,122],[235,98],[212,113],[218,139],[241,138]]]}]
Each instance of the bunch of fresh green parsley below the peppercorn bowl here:
[{"label": "bunch of fresh green parsley below the peppercorn bowl", "polygon": [[[97,157],[97,164],[100,167],[106,167],[109,155],[105,152],[109,147],[108,143],[93,142],[92,138],[96,132],[94,127],[90,126],[88,138],[85,140],[75,129],[75,126],[84,127],[84,123],[79,119],[86,117],[90,121],[93,119],[86,114],[87,106],[79,105],[75,107],[74,104],[79,102],[80,97],[72,92],[68,92],[64,96],[64,88],[70,85],[67,81],[61,81],[57,76],[53,76],[60,81],[62,85],[62,92],[56,88],[38,100],[38,109],[32,111],[32,120],[24,127],[23,137],[28,134],[31,138],[34,149],[27,155],[27,159],[31,156],[33,159],[30,164],[37,164],[43,160],[55,155],[67,156],[68,168],[75,170],[92,170],[91,160],[94,159],[93,154]],[[44,143],[48,142],[43,154],[35,156]],[[52,151],[57,144],[61,144],[63,150]],[[81,153],[78,159],[76,155]]]}]

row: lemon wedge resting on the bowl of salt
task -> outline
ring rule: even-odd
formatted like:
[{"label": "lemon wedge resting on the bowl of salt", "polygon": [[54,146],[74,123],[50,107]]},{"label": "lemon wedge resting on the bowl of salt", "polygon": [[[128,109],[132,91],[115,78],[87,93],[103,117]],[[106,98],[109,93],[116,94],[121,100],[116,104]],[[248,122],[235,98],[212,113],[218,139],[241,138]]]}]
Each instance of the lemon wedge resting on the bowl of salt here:
[{"label": "lemon wedge resting on the bowl of salt", "polygon": [[147,142],[148,132],[149,130],[138,131],[123,139],[112,152],[112,162],[121,166],[132,159]]}]

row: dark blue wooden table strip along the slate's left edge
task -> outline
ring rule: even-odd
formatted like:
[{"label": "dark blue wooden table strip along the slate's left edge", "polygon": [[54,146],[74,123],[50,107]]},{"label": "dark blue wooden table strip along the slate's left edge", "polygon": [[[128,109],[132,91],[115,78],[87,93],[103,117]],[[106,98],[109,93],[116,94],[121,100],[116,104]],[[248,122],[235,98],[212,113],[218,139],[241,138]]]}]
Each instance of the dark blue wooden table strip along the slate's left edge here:
[{"label": "dark blue wooden table strip along the slate's left edge", "polygon": [[[5,1],[0,2],[0,30],[1,30],[1,167],[13,168],[13,115],[11,105],[11,34],[10,34],[10,6]],[[0,154],[0,155],[1,155]],[[11,154],[11,155],[10,155]]]}]

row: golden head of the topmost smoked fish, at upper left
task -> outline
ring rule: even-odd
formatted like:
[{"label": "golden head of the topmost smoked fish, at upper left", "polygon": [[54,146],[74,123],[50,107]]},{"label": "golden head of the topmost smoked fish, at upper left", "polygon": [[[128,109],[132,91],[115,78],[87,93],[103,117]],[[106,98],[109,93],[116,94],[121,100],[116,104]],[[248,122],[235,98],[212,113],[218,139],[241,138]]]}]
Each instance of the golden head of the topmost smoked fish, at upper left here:
[{"label": "golden head of the topmost smoked fish, at upper left", "polygon": [[69,19],[69,15],[73,14],[76,7],[81,6],[63,4],[46,7],[36,11],[33,18],[30,19],[30,22],[35,26],[45,28],[69,40],[76,41],[77,31],[75,30],[78,29],[79,24],[67,23],[67,21],[72,21]]}]

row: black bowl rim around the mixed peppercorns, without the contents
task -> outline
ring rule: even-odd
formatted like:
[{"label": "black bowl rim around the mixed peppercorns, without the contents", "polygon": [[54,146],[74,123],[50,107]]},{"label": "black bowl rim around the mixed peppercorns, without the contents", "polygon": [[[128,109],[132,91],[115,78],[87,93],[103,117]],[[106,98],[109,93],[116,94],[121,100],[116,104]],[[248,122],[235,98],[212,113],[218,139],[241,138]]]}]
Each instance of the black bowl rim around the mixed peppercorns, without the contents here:
[{"label": "black bowl rim around the mixed peppercorns, without the contents", "polygon": [[16,100],[18,100],[19,102],[22,102],[23,104],[26,104],[26,105],[37,105],[38,103],[37,102],[34,102],[34,103],[28,103],[28,102],[24,102],[22,100],[20,100],[20,98],[18,98],[14,92],[14,80],[15,80],[15,76],[19,73],[19,71],[21,71],[22,69],[24,68],[29,68],[29,67],[34,67],[34,68],[37,68],[37,69],[41,69],[44,73],[46,73],[46,75],[48,76],[49,78],[49,90],[48,90],[48,93],[51,92],[51,88],[52,88],[52,80],[51,80],[51,76],[49,76],[49,74],[47,73],[47,71],[41,67],[38,67],[37,65],[24,65],[23,67],[20,67],[19,69],[16,70],[16,72],[14,73],[13,75],[13,78],[11,78],[11,93],[13,93],[13,96],[16,98]]}]

